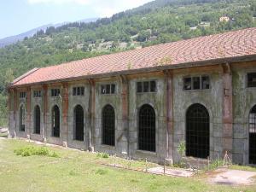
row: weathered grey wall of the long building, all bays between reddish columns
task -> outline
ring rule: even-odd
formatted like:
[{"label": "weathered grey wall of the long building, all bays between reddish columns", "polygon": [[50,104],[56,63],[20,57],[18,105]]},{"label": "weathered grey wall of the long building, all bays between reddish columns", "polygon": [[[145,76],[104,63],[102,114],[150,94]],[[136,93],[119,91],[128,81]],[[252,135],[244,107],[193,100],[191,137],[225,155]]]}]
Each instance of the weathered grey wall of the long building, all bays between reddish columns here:
[{"label": "weathered grey wall of the long building, all bays between reddish columns", "polygon": [[[232,87],[233,87],[233,161],[236,163],[248,163],[248,113],[253,105],[256,104],[256,89],[247,88],[247,73],[256,72],[256,62],[239,63],[231,65]],[[186,76],[209,75],[211,80],[210,90],[183,90],[183,78]],[[107,152],[109,154],[118,154],[119,156],[130,155],[132,158],[148,158],[148,160],[162,162],[167,158],[166,148],[166,76],[164,73],[128,75],[126,80],[121,77],[107,79],[95,79],[95,90],[92,89],[92,83],[87,80],[70,82],[66,101],[68,103],[67,126],[68,131],[63,131],[63,84],[47,84],[47,86],[32,86],[31,90],[19,88],[9,91],[9,131],[12,137],[30,137],[33,140],[44,141],[62,145],[67,142],[71,148],[88,149],[90,142],[96,151]],[[137,81],[156,80],[157,92],[155,93],[137,93]],[[170,135],[169,148],[173,154],[173,161],[180,160],[177,153],[177,146],[185,140],[185,115],[189,106],[200,103],[205,106],[210,115],[210,157],[215,159],[217,154],[222,157],[225,150],[224,146],[224,72],[221,66],[214,67],[196,67],[188,69],[172,70],[172,94],[173,105],[173,136]],[[126,82],[128,90],[123,88],[122,84]],[[102,95],[100,92],[101,84],[116,84],[116,93],[111,95]],[[93,83],[94,84],[94,83]],[[73,96],[73,86],[84,86],[84,96]],[[51,97],[50,90],[59,88],[61,97]],[[33,97],[33,90],[42,91],[41,98]],[[47,90],[44,92],[44,90]],[[93,92],[91,92],[93,90]],[[27,99],[20,99],[19,92],[30,92],[31,102]],[[94,92],[95,91],[95,92]],[[47,97],[44,97],[46,93]],[[95,102],[91,98],[95,93]],[[45,100],[46,98],[46,100]],[[128,102],[124,105],[125,99]],[[172,99],[172,97],[171,97]],[[102,108],[110,104],[115,110],[115,146],[110,147],[102,145]],[[143,104],[149,104],[154,108],[156,115],[156,151],[145,152],[138,150],[138,112]],[[26,131],[19,131],[20,105],[26,108]],[[34,134],[34,108],[38,105],[41,110],[41,134]],[[52,108],[57,105],[61,114],[61,137],[52,137]],[[73,139],[74,117],[73,110],[75,106],[81,105],[84,108],[84,142]],[[31,112],[29,113],[29,108]],[[95,112],[94,112],[95,110]],[[125,110],[128,112],[128,125],[124,122]],[[45,111],[45,114],[44,114]],[[232,113],[231,112],[231,113]],[[45,116],[45,119],[44,119]],[[91,119],[92,117],[92,119]],[[44,124],[45,121],[45,124]],[[168,124],[169,125],[169,124]],[[127,131],[128,126],[128,131]],[[231,125],[232,126],[232,125]],[[45,130],[44,130],[45,127]],[[90,133],[91,129],[91,133]],[[127,135],[128,133],[128,135]],[[90,135],[91,134],[91,135]],[[44,138],[45,136],[45,138]],[[90,140],[91,137],[91,140]],[[173,148],[172,148],[173,145]],[[230,146],[229,146],[230,147]],[[172,157],[171,157],[172,158]]]}]

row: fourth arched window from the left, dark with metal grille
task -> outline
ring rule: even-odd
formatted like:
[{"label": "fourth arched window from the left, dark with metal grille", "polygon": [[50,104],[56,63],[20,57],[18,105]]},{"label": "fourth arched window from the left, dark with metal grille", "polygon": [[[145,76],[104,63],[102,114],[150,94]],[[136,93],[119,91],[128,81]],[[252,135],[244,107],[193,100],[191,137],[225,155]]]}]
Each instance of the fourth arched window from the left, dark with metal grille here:
[{"label": "fourth arched window from the left, dark with metal grille", "polygon": [[84,141],[84,109],[77,105],[74,108],[74,139]]}]

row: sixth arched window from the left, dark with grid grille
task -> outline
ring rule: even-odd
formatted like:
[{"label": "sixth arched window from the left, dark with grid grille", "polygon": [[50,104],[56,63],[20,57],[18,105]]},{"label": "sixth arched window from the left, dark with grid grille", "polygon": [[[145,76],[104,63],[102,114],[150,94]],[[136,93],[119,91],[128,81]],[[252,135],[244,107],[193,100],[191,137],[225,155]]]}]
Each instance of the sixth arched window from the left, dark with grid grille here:
[{"label": "sixth arched window from the left, dark with grid grille", "polygon": [[155,113],[150,105],[143,105],[139,111],[138,148],[155,151]]}]

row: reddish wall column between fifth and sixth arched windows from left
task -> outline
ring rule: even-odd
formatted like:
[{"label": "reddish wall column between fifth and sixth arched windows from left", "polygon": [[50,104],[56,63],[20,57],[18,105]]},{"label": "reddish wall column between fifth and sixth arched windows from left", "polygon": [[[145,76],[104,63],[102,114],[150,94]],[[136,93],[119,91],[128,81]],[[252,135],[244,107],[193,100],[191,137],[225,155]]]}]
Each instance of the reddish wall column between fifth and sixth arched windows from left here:
[{"label": "reddish wall column between fifth and sixth arched windows from left", "polygon": [[122,84],[121,102],[122,102],[122,127],[124,135],[121,138],[121,153],[130,156],[129,148],[129,81],[125,75],[120,76]]}]

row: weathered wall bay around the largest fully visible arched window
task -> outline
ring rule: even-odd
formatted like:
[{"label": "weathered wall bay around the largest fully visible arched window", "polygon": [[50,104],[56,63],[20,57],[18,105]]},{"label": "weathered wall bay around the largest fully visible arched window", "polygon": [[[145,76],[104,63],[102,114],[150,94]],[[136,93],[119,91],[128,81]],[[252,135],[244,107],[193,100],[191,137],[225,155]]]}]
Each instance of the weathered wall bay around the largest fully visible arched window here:
[{"label": "weathered wall bay around the largest fully visible arched window", "polygon": [[[210,77],[210,90],[183,90],[183,78],[187,76],[208,75]],[[222,154],[222,96],[223,83],[218,68],[207,70],[178,70],[173,75],[173,160],[180,160],[177,146],[185,141],[186,112],[195,103],[207,108],[210,116],[210,158]]]}]

